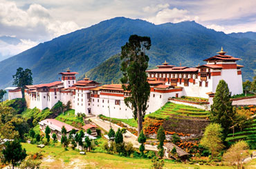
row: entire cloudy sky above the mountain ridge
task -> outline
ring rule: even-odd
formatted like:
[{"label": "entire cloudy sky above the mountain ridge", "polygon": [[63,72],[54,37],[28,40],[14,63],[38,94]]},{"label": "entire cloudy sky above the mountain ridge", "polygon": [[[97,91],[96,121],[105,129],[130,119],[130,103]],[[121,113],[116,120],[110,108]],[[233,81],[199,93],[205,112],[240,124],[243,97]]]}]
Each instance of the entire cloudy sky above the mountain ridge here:
[{"label": "entire cloudy sky above the mountain ridge", "polygon": [[155,24],[196,21],[225,33],[256,32],[256,0],[0,0],[1,56],[12,56],[62,34],[114,17]]}]

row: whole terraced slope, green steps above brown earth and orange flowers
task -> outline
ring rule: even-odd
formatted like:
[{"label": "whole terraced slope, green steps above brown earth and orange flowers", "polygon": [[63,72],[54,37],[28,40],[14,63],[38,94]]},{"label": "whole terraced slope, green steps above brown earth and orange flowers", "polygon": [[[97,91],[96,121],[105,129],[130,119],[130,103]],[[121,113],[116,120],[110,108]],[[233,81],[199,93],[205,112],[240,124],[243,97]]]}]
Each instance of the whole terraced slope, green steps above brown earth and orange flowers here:
[{"label": "whole terraced slope, green steps above brown earth and orange flowers", "polygon": [[161,109],[146,116],[145,131],[147,134],[154,134],[158,127],[163,125],[167,134],[182,133],[181,135],[190,135],[192,138],[201,137],[205,127],[210,123],[209,113],[192,106],[166,103]]}]

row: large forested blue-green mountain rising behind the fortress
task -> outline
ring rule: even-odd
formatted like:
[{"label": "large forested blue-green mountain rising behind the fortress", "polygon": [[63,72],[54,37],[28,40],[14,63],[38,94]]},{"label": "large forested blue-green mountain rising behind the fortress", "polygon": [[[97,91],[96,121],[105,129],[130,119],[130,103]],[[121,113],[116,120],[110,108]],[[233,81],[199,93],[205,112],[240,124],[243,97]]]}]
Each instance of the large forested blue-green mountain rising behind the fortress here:
[{"label": "large forested blue-green mountain rising behind the fortress", "polygon": [[[239,64],[245,66],[244,80],[252,79],[256,75],[255,40],[230,37],[194,21],[154,25],[140,19],[117,17],[40,43],[1,61],[0,88],[11,85],[12,74],[19,67],[32,70],[34,83],[55,81],[58,73],[66,68],[84,74],[120,53],[120,47],[125,45],[131,34],[152,39],[152,48],[147,52],[151,66],[165,60],[176,66],[179,63],[183,66],[197,66],[223,46],[228,54],[242,59]],[[103,68],[110,68],[109,64],[97,70]],[[95,71],[93,73],[98,74]]]}]

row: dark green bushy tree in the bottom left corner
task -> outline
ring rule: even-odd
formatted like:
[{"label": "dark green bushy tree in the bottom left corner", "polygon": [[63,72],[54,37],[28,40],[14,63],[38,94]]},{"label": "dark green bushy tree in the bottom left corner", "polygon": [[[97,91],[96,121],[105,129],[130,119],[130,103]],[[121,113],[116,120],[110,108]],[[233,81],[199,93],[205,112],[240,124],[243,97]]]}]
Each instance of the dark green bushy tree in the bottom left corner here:
[{"label": "dark green bushy tree in the bottom left corner", "polygon": [[25,148],[22,149],[21,143],[17,139],[14,141],[6,141],[4,145],[5,148],[2,150],[3,162],[12,163],[12,168],[19,166],[21,161],[27,156]]}]

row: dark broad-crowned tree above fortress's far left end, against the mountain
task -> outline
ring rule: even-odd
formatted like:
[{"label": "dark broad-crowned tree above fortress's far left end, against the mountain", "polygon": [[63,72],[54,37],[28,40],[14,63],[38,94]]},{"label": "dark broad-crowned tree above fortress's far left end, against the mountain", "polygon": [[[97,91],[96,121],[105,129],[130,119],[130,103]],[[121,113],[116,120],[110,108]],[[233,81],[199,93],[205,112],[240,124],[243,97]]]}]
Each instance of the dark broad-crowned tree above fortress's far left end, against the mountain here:
[{"label": "dark broad-crowned tree above fortress's far left end, against the mountain", "polygon": [[17,72],[12,76],[14,79],[13,85],[21,88],[22,98],[24,98],[24,88],[26,85],[33,84],[32,72],[30,69],[17,68]]}]

